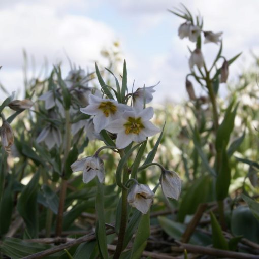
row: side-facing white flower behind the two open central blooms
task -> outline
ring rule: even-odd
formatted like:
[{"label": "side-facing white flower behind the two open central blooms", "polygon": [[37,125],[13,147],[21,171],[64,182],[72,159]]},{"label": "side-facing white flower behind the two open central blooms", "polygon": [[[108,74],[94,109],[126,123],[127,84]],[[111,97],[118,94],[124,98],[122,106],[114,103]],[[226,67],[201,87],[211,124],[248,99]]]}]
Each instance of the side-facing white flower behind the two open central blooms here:
[{"label": "side-facing white flower behind the two open central blooms", "polygon": [[138,88],[133,94],[133,106],[137,109],[143,109],[144,101],[146,104],[150,103],[153,99],[152,93],[155,92],[153,89],[155,86]]}]

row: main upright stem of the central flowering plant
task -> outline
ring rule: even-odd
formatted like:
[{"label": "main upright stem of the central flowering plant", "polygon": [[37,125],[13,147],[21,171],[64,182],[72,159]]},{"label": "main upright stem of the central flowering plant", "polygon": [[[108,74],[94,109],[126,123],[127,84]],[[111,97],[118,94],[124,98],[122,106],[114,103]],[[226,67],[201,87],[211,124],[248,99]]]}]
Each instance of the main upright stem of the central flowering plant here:
[{"label": "main upright stem of the central flowering plant", "polygon": [[[124,155],[124,151],[120,152],[120,157]],[[123,168],[123,179],[122,182],[125,184],[130,178],[130,173],[128,172],[128,166],[125,164]],[[123,249],[124,236],[127,226],[127,189],[121,190],[121,218],[120,218],[120,229],[118,235],[118,242],[113,259],[118,259]]]}]

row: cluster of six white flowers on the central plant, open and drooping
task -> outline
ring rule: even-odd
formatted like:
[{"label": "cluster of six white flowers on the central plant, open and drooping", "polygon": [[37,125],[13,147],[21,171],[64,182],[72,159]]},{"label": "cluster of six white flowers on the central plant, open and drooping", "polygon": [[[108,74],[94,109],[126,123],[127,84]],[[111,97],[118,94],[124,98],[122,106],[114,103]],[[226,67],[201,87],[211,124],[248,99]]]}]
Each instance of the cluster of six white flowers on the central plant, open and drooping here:
[{"label": "cluster of six white flowers on the central plant, open and drooping", "polygon": [[[116,148],[124,149],[134,142],[146,141],[147,137],[160,132],[150,119],[154,115],[152,107],[143,108],[145,103],[151,102],[154,86],[138,88],[126,96],[132,96],[133,106],[118,103],[113,99],[89,95],[89,105],[80,111],[92,115],[94,130],[100,133],[106,130],[116,134]],[[126,98],[127,99],[127,98]],[[128,99],[125,101],[127,103]],[[88,183],[97,177],[101,183],[105,181],[104,161],[93,156],[84,157],[71,165],[73,172],[83,171],[83,182]],[[174,171],[162,170],[161,187],[167,197],[178,199],[181,192],[181,179]],[[154,198],[153,191],[148,185],[135,182],[128,193],[127,201],[142,213],[147,213]]]}]

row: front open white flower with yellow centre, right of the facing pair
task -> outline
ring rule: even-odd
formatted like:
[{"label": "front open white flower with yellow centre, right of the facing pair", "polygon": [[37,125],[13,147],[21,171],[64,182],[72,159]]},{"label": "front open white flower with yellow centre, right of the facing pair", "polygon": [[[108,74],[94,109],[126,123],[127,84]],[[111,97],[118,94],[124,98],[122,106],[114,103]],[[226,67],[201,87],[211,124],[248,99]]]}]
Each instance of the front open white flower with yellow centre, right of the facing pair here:
[{"label": "front open white flower with yellow centre, right of the facing pair", "polygon": [[106,130],[111,133],[117,133],[117,148],[125,148],[132,141],[142,142],[146,140],[146,137],[160,132],[159,128],[149,121],[153,115],[154,110],[152,107],[141,111],[125,111],[121,118],[114,120],[106,127]]}]

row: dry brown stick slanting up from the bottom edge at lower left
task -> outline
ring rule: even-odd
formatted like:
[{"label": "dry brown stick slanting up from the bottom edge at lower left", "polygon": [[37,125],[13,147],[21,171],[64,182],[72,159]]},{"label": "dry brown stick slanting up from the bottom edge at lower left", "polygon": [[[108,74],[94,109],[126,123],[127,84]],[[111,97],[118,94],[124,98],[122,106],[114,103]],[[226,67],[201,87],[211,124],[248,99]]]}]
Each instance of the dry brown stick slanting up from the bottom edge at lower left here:
[{"label": "dry brown stick slanting up from the bottom edge at lower left", "polygon": [[[107,230],[106,231],[106,235],[110,235],[110,234],[113,234],[114,233],[114,230]],[[50,249],[47,249],[45,251],[42,251],[42,252],[38,252],[38,253],[35,253],[35,254],[31,254],[31,255],[28,255],[26,257],[23,257],[22,259],[38,259],[38,258],[44,258],[45,256],[47,255],[50,255],[50,254],[53,254],[53,253],[57,253],[59,251],[62,251],[64,249],[68,249],[74,245],[79,245],[81,243],[84,243],[84,242],[89,242],[89,241],[92,241],[96,239],[96,236],[95,236],[95,233],[92,232],[92,234],[90,235],[87,235],[87,236],[83,236],[81,238],[78,238],[74,241],[70,241],[66,244],[62,244],[62,245],[58,245],[58,246],[54,246]]]}]

